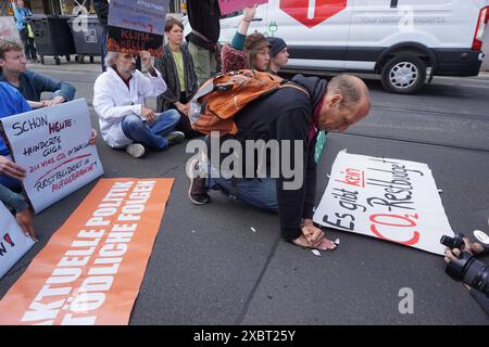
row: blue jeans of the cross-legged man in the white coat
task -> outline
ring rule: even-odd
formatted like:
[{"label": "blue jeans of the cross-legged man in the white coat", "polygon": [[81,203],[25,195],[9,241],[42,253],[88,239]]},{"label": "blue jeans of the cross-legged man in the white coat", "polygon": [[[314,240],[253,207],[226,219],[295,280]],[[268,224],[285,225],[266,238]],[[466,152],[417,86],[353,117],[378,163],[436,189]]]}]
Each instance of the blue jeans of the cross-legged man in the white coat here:
[{"label": "blue jeans of the cross-legged man in the white coat", "polygon": [[168,110],[156,114],[156,120],[147,123],[136,115],[125,116],[121,123],[122,130],[127,138],[150,150],[166,150],[168,141],[164,137],[175,129],[180,114],[176,110]]}]

